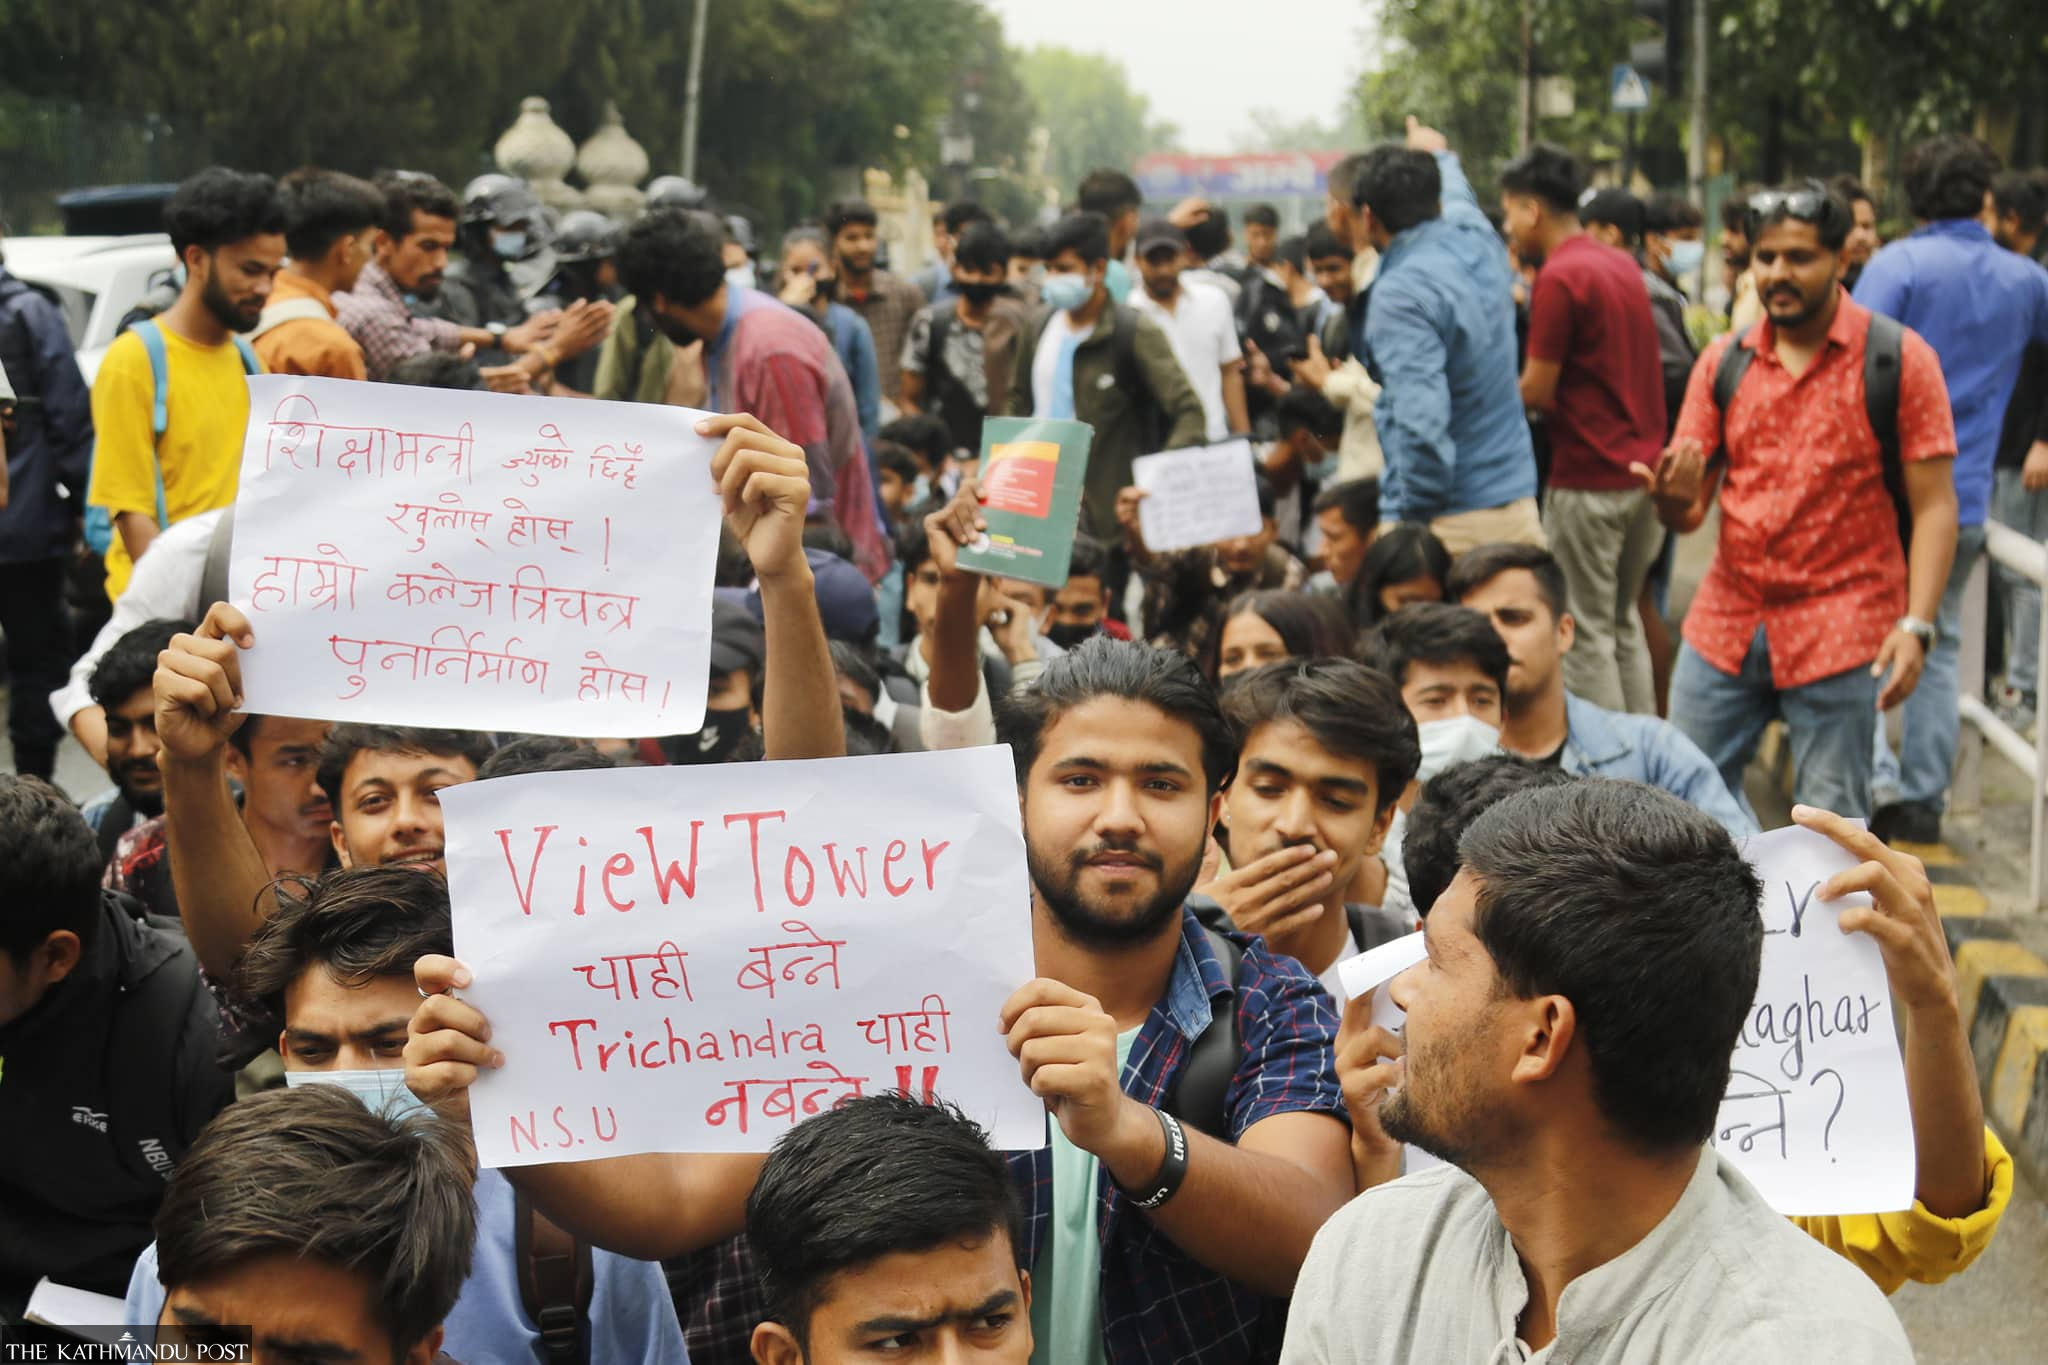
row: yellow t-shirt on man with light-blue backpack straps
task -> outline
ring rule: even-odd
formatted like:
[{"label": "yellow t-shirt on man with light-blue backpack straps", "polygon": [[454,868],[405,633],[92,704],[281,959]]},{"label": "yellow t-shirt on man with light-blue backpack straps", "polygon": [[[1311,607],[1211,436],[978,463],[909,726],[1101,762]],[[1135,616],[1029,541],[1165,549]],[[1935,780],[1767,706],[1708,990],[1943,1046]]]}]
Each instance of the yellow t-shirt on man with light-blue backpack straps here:
[{"label": "yellow t-shirt on man with light-blue backpack straps", "polygon": [[[250,420],[250,389],[236,344],[199,346],[170,327],[164,334],[164,440],[152,424],[154,381],[141,338],[123,332],[106,348],[92,381],[92,485],[86,501],[106,516],[141,512],[156,518],[156,473],[164,471],[164,510],[172,522],[225,508],[242,475],[242,432]],[[160,528],[166,530],[166,528]],[[106,596],[119,598],[133,569],[121,532],[106,546]]]}]

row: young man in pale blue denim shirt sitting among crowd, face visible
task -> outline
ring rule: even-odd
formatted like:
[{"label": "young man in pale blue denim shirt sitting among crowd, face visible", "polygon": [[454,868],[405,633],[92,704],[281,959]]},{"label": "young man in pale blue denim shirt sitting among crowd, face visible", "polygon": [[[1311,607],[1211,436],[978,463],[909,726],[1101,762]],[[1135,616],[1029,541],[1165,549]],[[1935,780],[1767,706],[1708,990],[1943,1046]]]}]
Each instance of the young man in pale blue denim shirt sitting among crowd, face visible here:
[{"label": "young man in pale blue denim shirt sitting among crowd, face visible", "polygon": [[1507,645],[1501,747],[1571,776],[1622,778],[1671,792],[1714,817],[1737,839],[1757,823],[1735,802],[1714,765],[1669,720],[1634,716],[1565,688],[1577,649],[1565,571],[1534,544],[1483,544],[1452,563],[1444,596],[1485,612]]}]

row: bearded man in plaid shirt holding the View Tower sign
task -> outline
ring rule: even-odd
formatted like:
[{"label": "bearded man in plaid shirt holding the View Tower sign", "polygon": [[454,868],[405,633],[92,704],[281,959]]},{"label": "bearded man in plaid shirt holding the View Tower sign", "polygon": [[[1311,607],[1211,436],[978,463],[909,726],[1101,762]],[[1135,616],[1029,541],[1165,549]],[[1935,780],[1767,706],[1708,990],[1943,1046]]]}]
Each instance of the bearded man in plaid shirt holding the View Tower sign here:
[{"label": "bearded man in plaid shirt holding the View Tower sign", "polygon": [[[1018,767],[1038,978],[991,1023],[1053,1111],[1053,1146],[1008,1156],[1040,1306],[1032,1336],[1063,1365],[1272,1359],[1300,1254],[1352,1169],[1329,999],[1292,960],[1204,931],[1186,905],[1223,804],[1229,724],[1184,657],[1098,639],[1004,706],[999,739]],[[469,980],[457,962],[420,964],[432,995],[406,1083],[422,1099],[461,1099],[479,1066],[504,1062],[487,1021],[440,995]],[[1223,1009],[1239,1038],[1223,1113],[1167,1113]],[[645,1156],[518,1179],[537,1199],[541,1181],[559,1195],[575,1181],[561,1216],[647,1254],[696,1244],[729,1199],[707,1193],[707,1166]],[[731,1277],[741,1300],[727,1318],[752,1330],[748,1285]]]}]

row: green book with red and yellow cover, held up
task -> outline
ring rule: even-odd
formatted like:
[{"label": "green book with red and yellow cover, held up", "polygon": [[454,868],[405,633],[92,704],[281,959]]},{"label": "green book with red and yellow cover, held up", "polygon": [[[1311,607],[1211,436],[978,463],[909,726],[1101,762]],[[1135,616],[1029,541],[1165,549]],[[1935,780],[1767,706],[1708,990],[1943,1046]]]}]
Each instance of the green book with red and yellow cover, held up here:
[{"label": "green book with red and yellow cover, held up", "polygon": [[961,567],[1061,587],[1081,520],[1081,483],[1096,428],[1059,417],[981,424],[981,516],[989,530],[961,546]]}]

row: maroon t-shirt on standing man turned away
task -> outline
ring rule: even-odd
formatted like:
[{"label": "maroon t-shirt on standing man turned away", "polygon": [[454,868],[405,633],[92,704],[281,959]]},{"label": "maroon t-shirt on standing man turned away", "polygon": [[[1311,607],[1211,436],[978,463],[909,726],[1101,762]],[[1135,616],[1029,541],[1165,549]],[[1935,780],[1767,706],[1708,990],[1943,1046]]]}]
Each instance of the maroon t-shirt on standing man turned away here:
[{"label": "maroon t-shirt on standing man turned away", "polygon": [[1563,366],[1550,432],[1550,487],[1640,487],[1630,463],[1663,450],[1663,362],[1642,266],[1579,233],[1550,252],[1530,293],[1530,360]]}]

